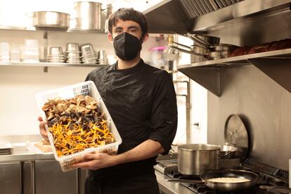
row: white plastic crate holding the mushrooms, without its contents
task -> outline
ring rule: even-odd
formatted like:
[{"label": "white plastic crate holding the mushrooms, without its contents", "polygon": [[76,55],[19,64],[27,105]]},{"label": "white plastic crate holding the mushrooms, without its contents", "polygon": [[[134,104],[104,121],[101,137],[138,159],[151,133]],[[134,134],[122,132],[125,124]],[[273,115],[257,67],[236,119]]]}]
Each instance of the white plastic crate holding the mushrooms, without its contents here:
[{"label": "white plastic crate holding the mushrooms, without its contents", "polygon": [[114,122],[112,121],[112,118],[110,117],[110,114],[105,106],[105,103],[103,102],[100,96],[100,93],[98,92],[94,82],[92,81],[82,82],[79,84],[65,86],[60,89],[54,89],[51,91],[37,93],[37,96],[36,96],[37,103],[41,110],[41,116],[47,120],[46,114],[41,108],[43,107],[44,103],[48,102],[48,99],[53,99],[56,97],[67,99],[67,98],[74,98],[75,96],[78,96],[78,95],[91,96],[98,102],[98,108],[100,108],[100,110],[105,113],[105,119],[107,120],[107,124],[110,129],[110,132],[112,132],[115,138],[115,142],[107,144],[107,145],[99,146],[98,148],[87,148],[83,150],[82,152],[74,153],[72,155],[58,157],[56,153],[56,148],[53,144],[53,135],[48,131],[48,126],[46,125],[46,132],[48,133],[48,139],[53,148],[53,155],[55,156],[56,160],[60,162],[60,167],[62,168],[63,172],[67,172],[69,170],[74,169],[72,168],[72,164],[81,162],[82,157],[86,153],[96,152],[96,153],[108,153],[110,155],[115,155],[118,150],[118,145],[122,143],[122,139],[115,127]]}]

